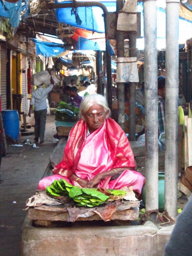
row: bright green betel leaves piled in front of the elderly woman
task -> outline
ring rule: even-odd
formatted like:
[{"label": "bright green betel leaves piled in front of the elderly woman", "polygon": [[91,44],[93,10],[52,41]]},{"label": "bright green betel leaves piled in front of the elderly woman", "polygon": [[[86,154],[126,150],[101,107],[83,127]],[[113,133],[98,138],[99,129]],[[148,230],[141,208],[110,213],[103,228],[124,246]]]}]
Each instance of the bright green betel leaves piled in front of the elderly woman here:
[{"label": "bright green betel leaves piled in front of the elderly woman", "polygon": [[124,195],[126,191],[106,189],[108,195],[98,191],[98,188],[80,188],[69,184],[65,179],[54,180],[51,186],[46,187],[46,192],[52,196],[64,196],[73,200],[78,206],[95,207],[103,204],[110,195]]}]

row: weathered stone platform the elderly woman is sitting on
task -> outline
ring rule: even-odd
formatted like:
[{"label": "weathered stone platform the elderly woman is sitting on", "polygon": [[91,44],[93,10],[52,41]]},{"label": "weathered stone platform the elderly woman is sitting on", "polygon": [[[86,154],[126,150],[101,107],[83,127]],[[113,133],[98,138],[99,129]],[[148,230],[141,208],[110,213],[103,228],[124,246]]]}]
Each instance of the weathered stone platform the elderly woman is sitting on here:
[{"label": "weathered stone platform the elderly woman is sitting on", "polygon": [[[43,177],[51,175],[52,167],[62,160],[66,143],[64,138],[59,141]],[[135,157],[142,156],[144,144],[131,143]],[[36,214],[40,216],[36,210],[38,207],[29,210],[22,227],[21,256],[163,256],[174,227],[156,226],[150,221],[136,226],[129,226],[130,220],[61,221],[62,213],[54,209],[50,211],[51,220],[48,216],[45,220],[44,212],[36,222]],[[50,227],[52,220],[56,226]],[[41,227],[36,227],[37,223]],[[49,227],[45,227],[47,224]]]}]

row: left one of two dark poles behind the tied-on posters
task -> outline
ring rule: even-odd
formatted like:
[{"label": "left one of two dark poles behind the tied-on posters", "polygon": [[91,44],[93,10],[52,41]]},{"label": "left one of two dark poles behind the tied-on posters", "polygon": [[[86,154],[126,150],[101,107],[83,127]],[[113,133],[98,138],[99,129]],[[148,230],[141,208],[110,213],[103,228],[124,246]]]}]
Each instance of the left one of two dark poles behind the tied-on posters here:
[{"label": "left one of two dark poles behind the tied-on posters", "polygon": [[[123,0],[116,1],[116,21],[118,20],[118,12],[123,8]],[[116,45],[117,45],[117,62],[118,57],[124,57],[124,33],[117,30],[116,33]],[[117,63],[117,65],[119,65]],[[122,82],[117,83],[117,95],[118,95],[118,124],[121,129],[125,131],[125,85]]]}]

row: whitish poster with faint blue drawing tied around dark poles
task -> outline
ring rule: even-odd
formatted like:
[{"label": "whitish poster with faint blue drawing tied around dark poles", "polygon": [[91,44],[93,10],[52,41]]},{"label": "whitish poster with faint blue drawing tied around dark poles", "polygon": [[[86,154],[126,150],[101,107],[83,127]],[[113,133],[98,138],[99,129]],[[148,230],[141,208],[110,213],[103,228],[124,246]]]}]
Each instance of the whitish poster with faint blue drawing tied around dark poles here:
[{"label": "whitish poster with faint blue drawing tied around dark poles", "polygon": [[137,57],[117,58],[116,82],[139,82]]}]

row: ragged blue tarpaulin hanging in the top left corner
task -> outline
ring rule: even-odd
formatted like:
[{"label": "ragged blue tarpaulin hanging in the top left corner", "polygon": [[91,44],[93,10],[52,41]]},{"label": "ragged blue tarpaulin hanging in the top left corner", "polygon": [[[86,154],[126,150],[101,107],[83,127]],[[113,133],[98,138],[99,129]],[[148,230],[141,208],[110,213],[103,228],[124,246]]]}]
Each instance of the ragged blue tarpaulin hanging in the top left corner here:
[{"label": "ragged blue tarpaulin hanging in the top left corner", "polygon": [[22,0],[16,3],[9,3],[0,0],[0,16],[9,18],[10,24],[13,28],[18,27],[21,14]]}]

